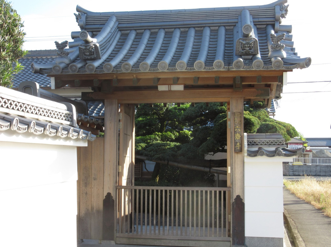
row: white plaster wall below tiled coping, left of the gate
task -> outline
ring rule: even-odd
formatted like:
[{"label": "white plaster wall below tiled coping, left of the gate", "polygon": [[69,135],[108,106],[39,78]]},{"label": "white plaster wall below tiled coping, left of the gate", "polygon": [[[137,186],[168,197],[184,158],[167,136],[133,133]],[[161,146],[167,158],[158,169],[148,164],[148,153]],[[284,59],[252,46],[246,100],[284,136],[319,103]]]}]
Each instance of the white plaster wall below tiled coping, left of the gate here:
[{"label": "white plaster wall below tiled coping, left of the gate", "polygon": [[2,136],[1,244],[76,246],[76,147],[3,142]]}]

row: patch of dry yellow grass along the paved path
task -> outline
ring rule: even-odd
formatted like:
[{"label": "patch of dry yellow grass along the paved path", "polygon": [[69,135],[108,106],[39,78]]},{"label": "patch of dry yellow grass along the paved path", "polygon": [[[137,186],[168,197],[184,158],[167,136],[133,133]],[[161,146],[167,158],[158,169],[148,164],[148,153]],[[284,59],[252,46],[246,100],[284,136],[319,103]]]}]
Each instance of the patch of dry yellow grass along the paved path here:
[{"label": "patch of dry yellow grass along the paved path", "polygon": [[303,199],[331,217],[331,180],[317,181],[314,178],[303,178],[299,181],[284,179],[286,188],[300,199]]}]

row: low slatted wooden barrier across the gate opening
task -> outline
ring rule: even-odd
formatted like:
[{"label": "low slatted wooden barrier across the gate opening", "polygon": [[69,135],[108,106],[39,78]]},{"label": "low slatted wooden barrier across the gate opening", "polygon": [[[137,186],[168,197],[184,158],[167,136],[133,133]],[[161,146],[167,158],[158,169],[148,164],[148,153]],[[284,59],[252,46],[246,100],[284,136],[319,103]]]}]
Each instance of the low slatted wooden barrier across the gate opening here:
[{"label": "low slatted wooden barrier across the gate opening", "polygon": [[[228,238],[230,188],[117,186],[118,236]],[[130,236],[127,236],[130,237]]]}]

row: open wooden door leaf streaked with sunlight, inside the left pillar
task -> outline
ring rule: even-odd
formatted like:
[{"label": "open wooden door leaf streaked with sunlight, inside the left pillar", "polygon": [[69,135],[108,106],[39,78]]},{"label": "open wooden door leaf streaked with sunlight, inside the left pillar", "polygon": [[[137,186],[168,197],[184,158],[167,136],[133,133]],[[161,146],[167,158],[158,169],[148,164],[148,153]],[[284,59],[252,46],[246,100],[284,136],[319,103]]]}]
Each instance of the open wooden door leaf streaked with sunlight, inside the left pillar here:
[{"label": "open wooden door leaf streaked with sunlight, inside the left pillar", "polygon": [[[134,185],[134,105],[121,104],[119,108],[119,167],[118,185]],[[122,192],[118,199],[124,202],[125,207],[119,207],[119,229],[120,232],[130,231],[130,215],[133,209],[128,203],[132,195]],[[129,217],[128,217],[129,216]]]}]

